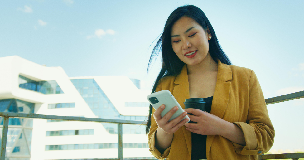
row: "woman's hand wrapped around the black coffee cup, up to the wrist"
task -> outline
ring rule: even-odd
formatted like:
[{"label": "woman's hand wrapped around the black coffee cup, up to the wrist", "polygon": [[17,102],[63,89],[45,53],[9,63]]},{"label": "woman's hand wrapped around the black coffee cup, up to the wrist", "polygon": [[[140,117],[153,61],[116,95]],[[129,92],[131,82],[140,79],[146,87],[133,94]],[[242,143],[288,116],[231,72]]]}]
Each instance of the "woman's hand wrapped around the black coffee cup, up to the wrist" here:
[{"label": "woman's hand wrapped around the black coffee cup, up to the wrist", "polygon": [[188,116],[191,121],[196,122],[185,124],[188,131],[202,135],[221,135],[222,124],[225,120],[199,109],[188,108],[184,110],[187,113],[192,113],[193,115]]}]

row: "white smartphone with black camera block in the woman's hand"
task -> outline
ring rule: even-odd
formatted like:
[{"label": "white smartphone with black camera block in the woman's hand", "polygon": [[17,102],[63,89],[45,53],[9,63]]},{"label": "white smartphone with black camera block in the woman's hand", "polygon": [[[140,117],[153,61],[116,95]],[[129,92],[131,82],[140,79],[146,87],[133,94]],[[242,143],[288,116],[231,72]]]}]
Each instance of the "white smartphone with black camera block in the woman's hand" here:
[{"label": "white smartphone with black camera block in the woman's hand", "polygon": [[[147,96],[148,101],[153,106],[154,109],[158,109],[162,104],[165,104],[165,109],[162,111],[161,116],[164,117],[166,113],[168,113],[173,107],[177,106],[178,110],[172,115],[172,117],[169,119],[171,121],[172,119],[175,119],[179,115],[181,115],[184,112],[184,109],[181,108],[181,106],[178,104],[174,96],[171,94],[168,90],[161,90],[155,93],[152,93]],[[183,119],[188,118],[188,115],[186,115]],[[190,121],[190,120],[189,120]],[[189,122],[188,121],[188,122]],[[188,123],[187,122],[187,123]]]}]

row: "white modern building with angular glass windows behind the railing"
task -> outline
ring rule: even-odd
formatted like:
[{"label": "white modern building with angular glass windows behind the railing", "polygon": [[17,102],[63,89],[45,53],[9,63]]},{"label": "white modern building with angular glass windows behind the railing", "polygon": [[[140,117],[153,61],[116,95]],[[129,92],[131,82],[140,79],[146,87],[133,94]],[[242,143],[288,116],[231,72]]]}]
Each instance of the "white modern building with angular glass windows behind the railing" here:
[{"label": "white modern building with angular glass windows behind the railing", "polygon": [[[139,83],[126,76],[68,77],[61,67],[2,57],[0,112],[143,121],[150,91],[140,90]],[[124,159],[155,159],[147,142],[144,125],[123,125]],[[117,124],[10,118],[6,156],[9,160],[114,159]]]}]

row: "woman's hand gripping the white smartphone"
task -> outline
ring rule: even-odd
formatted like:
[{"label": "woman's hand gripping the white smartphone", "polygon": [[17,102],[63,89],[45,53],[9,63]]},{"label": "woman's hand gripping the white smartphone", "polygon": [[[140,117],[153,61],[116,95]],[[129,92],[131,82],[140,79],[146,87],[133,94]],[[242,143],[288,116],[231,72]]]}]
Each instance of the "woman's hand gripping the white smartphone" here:
[{"label": "woman's hand gripping the white smartphone", "polygon": [[[173,134],[189,120],[189,119],[182,120],[187,115],[187,112],[183,112],[181,115],[168,122],[169,119],[172,117],[172,115],[178,110],[178,107],[177,106],[173,107],[168,113],[165,114],[164,117],[162,117],[161,113],[164,109],[165,109],[165,105],[161,105],[154,112],[153,117],[158,125],[158,128],[162,129],[162,131],[167,134]],[[159,129],[157,129],[157,131],[159,131]]]}]

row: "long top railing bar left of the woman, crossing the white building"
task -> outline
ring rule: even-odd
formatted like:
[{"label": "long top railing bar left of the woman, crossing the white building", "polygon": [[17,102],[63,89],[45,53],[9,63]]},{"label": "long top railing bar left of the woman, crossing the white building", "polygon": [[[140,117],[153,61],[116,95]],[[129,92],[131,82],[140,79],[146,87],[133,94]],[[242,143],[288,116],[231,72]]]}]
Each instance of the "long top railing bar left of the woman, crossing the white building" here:
[{"label": "long top railing bar left of the woman, crossing the white building", "polygon": [[13,112],[0,112],[0,117],[11,118],[31,118],[31,119],[53,119],[64,121],[82,121],[82,122],[102,122],[102,123],[121,123],[121,124],[143,124],[146,125],[146,121],[134,121],[123,119],[104,119],[104,118],[88,118],[88,117],[72,117],[72,116],[57,116],[57,115],[45,115],[34,113],[13,113]]}]

